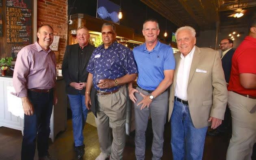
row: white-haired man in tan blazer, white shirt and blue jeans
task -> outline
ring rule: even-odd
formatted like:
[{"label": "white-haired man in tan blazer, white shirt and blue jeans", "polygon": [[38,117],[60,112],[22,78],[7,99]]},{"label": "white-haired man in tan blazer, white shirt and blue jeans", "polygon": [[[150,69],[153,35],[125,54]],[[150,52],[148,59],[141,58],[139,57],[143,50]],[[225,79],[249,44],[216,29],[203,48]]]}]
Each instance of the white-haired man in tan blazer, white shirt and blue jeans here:
[{"label": "white-haired man in tan blazer, white shirt and blue jeans", "polygon": [[195,30],[176,31],[180,53],[169,98],[171,148],[174,160],[200,160],[208,126],[215,129],[224,118],[228,91],[217,51],[195,46]]}]

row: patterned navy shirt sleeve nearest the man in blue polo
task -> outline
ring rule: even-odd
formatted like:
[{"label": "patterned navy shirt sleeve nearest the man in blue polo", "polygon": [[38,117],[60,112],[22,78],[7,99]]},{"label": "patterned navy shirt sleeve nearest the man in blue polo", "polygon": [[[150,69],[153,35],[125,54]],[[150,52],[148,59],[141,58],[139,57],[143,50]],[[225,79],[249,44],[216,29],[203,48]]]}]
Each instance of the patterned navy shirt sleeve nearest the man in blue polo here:
[{"label": "patterned navy shirt sleeve nearest the man in blue polo", "polygon": [[137,65],[135,63],[135,59],[132,51],[130,49],[127,49],[126,52],[127,52],[126,58],[124,59],[126,75],[138,73]]}]

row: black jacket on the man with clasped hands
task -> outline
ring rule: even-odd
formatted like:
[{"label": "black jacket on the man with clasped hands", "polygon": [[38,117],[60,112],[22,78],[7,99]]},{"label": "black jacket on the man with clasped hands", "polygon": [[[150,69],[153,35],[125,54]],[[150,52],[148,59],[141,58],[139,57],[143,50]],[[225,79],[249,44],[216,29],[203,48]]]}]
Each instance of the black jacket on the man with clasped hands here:
[{"label": "black jacket on the man with clasped hands", "polygon": [[[86,47],[88,47],[88,51],[85,53],[85,64],[83,65],[84,70],[84,79],[81,79],[82,82],[87,82],[88,72],[86,70],[88,61],[91,58],[91,54],[93,50],[95,49],[94,46],[88,44]],[[68,45],[66,47],[65,55],[63,58],[62,63],[62,76],[65,79],[66,82],[66,93],[67,94],[82,94],[85,95],[85,88],[83,90],[76,90],[74,87],[71,87],[69,84],[71,82],[77,82],[78,81],[78,49],[79,45],[78,43],[75,45]]]}]

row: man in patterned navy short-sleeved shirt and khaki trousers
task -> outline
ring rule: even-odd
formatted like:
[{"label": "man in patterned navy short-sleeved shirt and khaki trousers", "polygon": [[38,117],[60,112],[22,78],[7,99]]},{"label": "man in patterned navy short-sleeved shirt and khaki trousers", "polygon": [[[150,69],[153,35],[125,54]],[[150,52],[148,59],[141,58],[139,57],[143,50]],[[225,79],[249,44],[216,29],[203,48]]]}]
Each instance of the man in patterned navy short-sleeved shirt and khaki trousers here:
[{"label": "man in patterned navy short-sleeved shirt and khaki trousers", "polygon": [[[93,51],[87,70],[89,72],[85,104],[90,108],[90,92],[97,94],[96,124],[100,142],[100,155],[96,160],[121,160],[125,146],[126,83],[134,81],[137,66],[129,48],[115,41],[115,26],[102,25],[103,45]],[[92,100],[93,102],[93,100]],[[96,107],[92,105],[91,107]],[[113,141],[111,135],[113,134]]]}]

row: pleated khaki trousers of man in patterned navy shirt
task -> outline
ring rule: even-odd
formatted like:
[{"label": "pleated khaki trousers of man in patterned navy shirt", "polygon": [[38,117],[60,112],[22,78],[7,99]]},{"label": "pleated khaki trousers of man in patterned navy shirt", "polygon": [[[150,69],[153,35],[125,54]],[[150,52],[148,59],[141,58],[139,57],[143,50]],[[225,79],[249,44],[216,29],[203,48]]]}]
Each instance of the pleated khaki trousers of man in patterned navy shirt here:
[{"label": "pleated khaki trousers of man in patterned navy shirt", "polygon": [[98,109],[95,121],[100,150],[110,155],[110,160],[121,160],[126,140],[126,86],[123,85],[113,94],[98,95],[97,99]]}]

